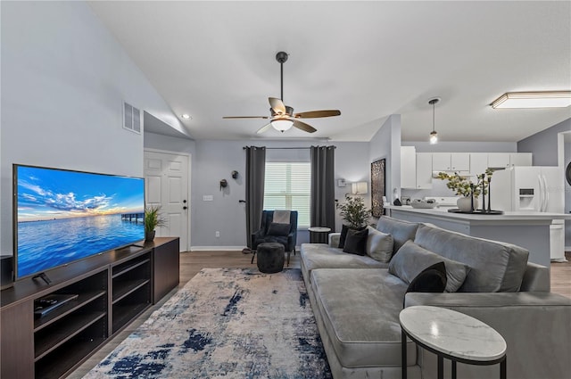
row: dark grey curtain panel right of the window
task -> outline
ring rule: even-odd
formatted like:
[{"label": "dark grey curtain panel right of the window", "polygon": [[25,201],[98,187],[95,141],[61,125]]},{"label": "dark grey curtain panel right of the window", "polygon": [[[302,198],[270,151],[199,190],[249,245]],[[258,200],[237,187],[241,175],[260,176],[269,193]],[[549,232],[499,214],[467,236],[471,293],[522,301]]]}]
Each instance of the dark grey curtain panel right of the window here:
[{"label": "dark grey curtain panel right of the window", "polygon": [[335,146],[311,146],[311,227],[335,231]]}]

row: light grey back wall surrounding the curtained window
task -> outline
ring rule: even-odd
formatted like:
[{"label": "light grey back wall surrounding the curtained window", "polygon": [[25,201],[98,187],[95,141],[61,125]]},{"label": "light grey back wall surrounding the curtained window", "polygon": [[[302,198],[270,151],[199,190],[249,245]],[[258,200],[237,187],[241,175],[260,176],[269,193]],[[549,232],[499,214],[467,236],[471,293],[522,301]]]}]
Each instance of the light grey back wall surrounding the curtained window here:
[{"label": "light grey back wall surrounding the curtained window", "polygon": [[[145,148],[187,152],[192,154],[192,189],[191,189],[191,243],[193,250],[223,247],[241,249],[246,244],[245,206],[238,202],[245,199],[245,152],[244,146],[267,147],[302,147],[311,145],[332,144],[325,141],[189,141],[170,136],[159,136],[145,133]],[[337,142],[335,143],[335,198],[343,201],[344,194],[351,191],[351,185],[337,187],[336,179],[344,178],[347,183],[369,181],[370,162],[368,159],[368,143]],[[269,150],[268,155],[279,155],[282,158],[296,160],[298,150]],[[237,170],[237,179],[231,172]],[[224,191],[219,189],[220,179],[228,181]],[[211,202],[204,202],[204,195],[212,195]],[[365,196],[370,207],[370,196]],[[341,230],[341,218],[337,218],[336,227]],[[216,237],[216,232],[220,236]],[[297,243],[309,242],[309,233],[300,230]]]}]

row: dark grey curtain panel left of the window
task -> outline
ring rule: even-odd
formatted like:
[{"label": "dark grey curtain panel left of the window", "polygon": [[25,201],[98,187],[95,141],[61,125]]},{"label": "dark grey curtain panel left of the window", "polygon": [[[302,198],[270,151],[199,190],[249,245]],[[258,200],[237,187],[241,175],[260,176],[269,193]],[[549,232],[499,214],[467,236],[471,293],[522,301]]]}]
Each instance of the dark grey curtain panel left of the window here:
[{"label": "dark grey curtain panel left of the window", "polygon": [[266,147],[246,146],[246,241],[252,249],[252,233],[260,229],[264,206]]}]

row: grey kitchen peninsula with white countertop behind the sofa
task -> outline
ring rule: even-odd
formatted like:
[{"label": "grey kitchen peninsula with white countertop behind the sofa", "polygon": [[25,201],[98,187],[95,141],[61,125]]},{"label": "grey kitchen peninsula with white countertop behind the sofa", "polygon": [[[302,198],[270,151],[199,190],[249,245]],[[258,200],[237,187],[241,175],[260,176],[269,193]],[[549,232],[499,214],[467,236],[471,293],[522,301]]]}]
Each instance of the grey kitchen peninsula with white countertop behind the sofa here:
[{"label": "grey kitchen peninsula with white countertop behind the sofa", "polygon": [[505,212],[502,215],[451,213],[448,208],[415,209],[410,206],[385,205],[387,214],[412,222],[426,222],[437,227],[475,237],[514,243],[529,251],[529,261],[550,267],[550,225],[554,219],[571,219],[564,213]]}]

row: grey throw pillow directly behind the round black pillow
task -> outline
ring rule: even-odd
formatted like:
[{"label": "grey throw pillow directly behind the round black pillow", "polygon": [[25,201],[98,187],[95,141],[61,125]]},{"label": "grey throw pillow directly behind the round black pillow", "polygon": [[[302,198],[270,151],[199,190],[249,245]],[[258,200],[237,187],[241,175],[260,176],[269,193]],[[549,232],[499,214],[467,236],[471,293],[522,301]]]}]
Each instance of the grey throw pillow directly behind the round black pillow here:
[{"label": "grey throw pillow directly behind the round black pillow", "polygon": [[389,273],[398,276],[410,284],[423,268],[437,262],[444,262],[446,266],[446,292],[456,292],[466,280],[470,268],[456,260],[449,260],[433,251],[428,251],[412,241],[407,241],[394,254],[389,263]]}]

